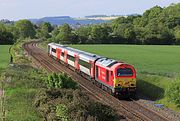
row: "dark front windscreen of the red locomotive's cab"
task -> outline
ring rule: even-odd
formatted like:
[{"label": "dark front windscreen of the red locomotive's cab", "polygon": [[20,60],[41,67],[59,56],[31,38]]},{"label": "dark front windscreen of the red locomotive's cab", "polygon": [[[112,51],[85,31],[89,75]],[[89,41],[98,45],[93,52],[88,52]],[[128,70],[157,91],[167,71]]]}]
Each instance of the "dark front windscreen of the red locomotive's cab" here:
[{"label": "dark front windscreen of the red locomotive's cab", "polygon": [[131,68],[119,68],[117,69],[117,76],[133,76]]}]

